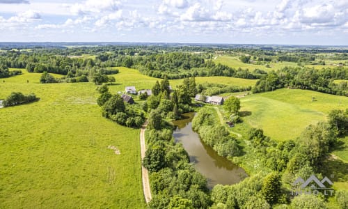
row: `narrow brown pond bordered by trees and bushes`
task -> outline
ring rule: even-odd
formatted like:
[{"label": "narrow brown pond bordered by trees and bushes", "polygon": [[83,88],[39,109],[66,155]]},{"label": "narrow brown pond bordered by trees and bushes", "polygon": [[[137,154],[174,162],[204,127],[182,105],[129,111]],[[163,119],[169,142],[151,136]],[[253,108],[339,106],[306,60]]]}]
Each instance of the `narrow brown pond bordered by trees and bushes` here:
[{"label": "narrow brown pond bordered by trees and bushes", "polygon": [[212,148],[200,140],[199,135],[192,130],[191,121],[194,113],[184,114],[186,119],[173,121],[177,127],[173,132],[175,142],[180,142],[189,154],[190,162],[208,180],[208,187],[214,185],[232,185],[246,178],[244,169],[230,162],[226,157],[219,156]]}]

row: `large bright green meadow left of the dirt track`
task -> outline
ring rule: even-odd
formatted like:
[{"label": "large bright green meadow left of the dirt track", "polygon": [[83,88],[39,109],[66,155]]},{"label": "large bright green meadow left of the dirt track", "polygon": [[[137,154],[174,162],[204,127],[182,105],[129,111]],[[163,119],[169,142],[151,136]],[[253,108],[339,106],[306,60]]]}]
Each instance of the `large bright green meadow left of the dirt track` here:
[{"label": "large bright green meadow left of the dirt track", "polygon": [[40,101],[0,109],[0,208],[145,208],[139,130],[102,117],[94,84],[23,72],[0,79],[0,98]]}]

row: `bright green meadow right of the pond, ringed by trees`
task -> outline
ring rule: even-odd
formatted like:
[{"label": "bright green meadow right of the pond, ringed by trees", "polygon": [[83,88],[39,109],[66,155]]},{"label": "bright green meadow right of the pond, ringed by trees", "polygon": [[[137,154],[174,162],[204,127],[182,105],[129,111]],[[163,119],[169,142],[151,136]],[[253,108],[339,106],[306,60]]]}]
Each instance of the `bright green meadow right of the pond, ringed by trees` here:
[{"label": "bright green meadow right of the pond, ringed by trees", "polygon": [[241,105],[242,114],[246,116],[244,123],[235,127],[236,132],[242,132],[246,127],[260,127],[267,136],[283,141],[296,139],[306,126],[325,121],[331,109],[347,108],[348,98],[283,88],[248,95],[241,98]]}]

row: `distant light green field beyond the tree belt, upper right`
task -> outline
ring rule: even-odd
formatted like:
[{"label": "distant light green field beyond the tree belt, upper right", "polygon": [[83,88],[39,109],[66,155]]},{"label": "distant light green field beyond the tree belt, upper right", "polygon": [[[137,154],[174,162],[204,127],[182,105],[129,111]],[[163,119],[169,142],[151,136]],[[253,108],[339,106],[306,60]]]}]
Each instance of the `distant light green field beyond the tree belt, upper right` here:
[{"label": "distant light green field beyond the tree belt, upper right", "polygon": [[292,62],[278,62],[278,63],[271,62],[269,63],[269,66],[271,68],[267,68],[265,65],[254,65],[254,64],[248,64],[248,63],[242,63],[242,61],[239,60],[238,56],[218,56],[214,61],[216,63],[228,65],[230,68],[236,68],[236,69],[247,68],[250,71],[253,71],[255,69],[271,71],[271,70],[278,70],[280,68],[284,68],[285,66],[297,66],[297,63],[292,63]]}]

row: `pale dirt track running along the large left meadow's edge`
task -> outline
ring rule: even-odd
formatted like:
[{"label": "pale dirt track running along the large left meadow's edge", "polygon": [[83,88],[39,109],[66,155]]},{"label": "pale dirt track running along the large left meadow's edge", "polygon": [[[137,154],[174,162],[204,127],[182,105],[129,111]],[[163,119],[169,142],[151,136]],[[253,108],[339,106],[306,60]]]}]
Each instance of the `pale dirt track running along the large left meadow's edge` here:
[{"label": "pale dirt track running along the large left meadow's edge", "polygon": [[149,203],[152,199],[151,196],[151,189],[150,189],[150,180],[149,180],[149,173],[148,169],[145,169],[143,167],[143,158],[145,157],[145,151],[146,151],[146,146],[145,146],[145,130],[146,130],[146,123],[141,127],[140,130],[140,148],[141,148],[141,178],[143,181],[143,194],[145,198],[145,202]]}]

